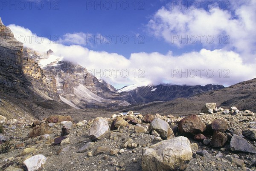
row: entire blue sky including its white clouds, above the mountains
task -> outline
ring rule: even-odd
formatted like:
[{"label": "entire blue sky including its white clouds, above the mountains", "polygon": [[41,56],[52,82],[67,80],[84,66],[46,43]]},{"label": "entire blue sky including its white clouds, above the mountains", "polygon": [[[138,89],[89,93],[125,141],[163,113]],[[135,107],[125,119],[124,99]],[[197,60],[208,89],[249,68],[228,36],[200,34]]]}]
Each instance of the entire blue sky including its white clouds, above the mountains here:
[{"label": "entire blue sky including its white clouds, above the mountains", "polygon": [[[97,71],[127,69],[129,77],[99,76],[117,87],[231,85],[256,77],[255,2],[3,0],[0,17],[18,36],[34,34],[59,43],[26,41],[24,46],[53,48],[56,55]],[[134,69],[143,69],[143,78],[132,74]],[[214,71],[214,76],[200,69]],[[224,71],[230,77],[223,77]]]}]

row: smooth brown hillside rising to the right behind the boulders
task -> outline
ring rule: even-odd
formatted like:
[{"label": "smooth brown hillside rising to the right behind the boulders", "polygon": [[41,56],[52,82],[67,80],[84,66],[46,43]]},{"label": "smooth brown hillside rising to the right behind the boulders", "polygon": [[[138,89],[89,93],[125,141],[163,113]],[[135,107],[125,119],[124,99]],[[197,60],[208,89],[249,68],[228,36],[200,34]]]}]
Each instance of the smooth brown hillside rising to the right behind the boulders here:
[{"label": "smooth brown hillside rising to the right behind the boulders", "polygon": [[236,106],[240,110],[256,111],[256,78],[229,87],[196,94],[189,98],[177,98],[167,102],[151,102],[148,104],[130,105],[123,111],[133,110],[147,113],[160,114],[196,114],[201,111],[205,103],[216,103],[217,106],[230,108]]}]

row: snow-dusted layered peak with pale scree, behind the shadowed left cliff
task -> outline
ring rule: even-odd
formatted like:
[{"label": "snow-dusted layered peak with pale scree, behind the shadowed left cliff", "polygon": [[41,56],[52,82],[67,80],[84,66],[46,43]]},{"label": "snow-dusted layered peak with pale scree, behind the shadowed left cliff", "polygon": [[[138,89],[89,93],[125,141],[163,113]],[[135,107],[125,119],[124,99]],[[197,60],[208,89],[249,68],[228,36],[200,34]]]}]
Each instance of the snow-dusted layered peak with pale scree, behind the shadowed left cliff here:
[{"label": "snow-dusted layered peak with pale scree, behind the shadowed left cliff", "polygon": [[54,55],[49,49],[40,54],[32,49],[24,53],[30,60],[41,66],[46,79],[52,83],[53,94],[48,94],[54,100],[60,100],[73,108],[111,108],[130,105],[125,100],[108,99],[107,95],[115,90],[103,80],[98,80],[86,68]]}]

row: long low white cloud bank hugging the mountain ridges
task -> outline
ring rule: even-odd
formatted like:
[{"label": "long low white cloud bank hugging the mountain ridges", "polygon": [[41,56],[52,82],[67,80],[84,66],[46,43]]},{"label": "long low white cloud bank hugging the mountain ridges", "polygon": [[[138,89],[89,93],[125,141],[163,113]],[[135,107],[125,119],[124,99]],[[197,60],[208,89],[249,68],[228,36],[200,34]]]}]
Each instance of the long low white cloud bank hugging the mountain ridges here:
[{"label": "long low white cloud bank hugging the mountain ridges", "polygon": [[[161,10],[164,14],[169,15],[168,11],[165,11],[166,9]],[[180,20],[187,20],[183,14],[177,15]],[[166,17],[163,18],[168,20]],[[177,28],[182,29],[182,26],[178,25],[175,26],[176,31]],[[79,45],[55,44],[45,37],[42,42],[38,43],[39,38],[37,40],[36,34],[29,29],[16,25],[8,27],[11,28],[18,40],[26,37],[26,41],[23,41],[24,46],[44,53],[52,49],[55,56],[79,63],[89,71],[93,71],[96,77],[104,79],[117,88],[121,88],[123,85],[159,83],[232,85],[252,79],[256,73],[255,63],[244,63],[244,57],[241,54],[225,48],[215,50],[202,48],[200,51],[180,56],[174,56],[172,51],[169,51],[168,54],[140,52],[131,54],[127,59],[120,54],[93,51]],[[160,34],[160,32],[156,34]],[[29,39],[29,37],[32,38]]]}]

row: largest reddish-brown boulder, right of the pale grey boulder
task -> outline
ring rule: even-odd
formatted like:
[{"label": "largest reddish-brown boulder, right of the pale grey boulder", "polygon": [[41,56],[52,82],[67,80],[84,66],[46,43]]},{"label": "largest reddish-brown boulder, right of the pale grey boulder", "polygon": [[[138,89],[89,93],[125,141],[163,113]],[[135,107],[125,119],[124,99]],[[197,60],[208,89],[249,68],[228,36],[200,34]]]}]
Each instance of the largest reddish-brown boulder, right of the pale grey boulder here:
[{"label": "largest reddish-brown boulder, right of the pale grey boulder", "polygon": [[184,117],[178,122],[180,134],[196,135],[206,130],[206,125],[202,119],[195,114]]}]

